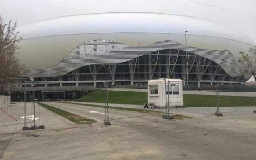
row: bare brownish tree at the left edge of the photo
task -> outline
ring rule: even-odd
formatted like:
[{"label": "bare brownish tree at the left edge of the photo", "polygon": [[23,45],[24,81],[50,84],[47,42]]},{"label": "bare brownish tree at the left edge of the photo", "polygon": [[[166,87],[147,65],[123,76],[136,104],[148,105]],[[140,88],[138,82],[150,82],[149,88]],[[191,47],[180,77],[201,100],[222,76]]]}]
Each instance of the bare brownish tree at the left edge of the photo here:
[{"label": "bare brownish tree at the left edge of the photo", "polygon": [[[0,79],[18,78],[24,65],[20,65],[16,55],[17,43],[22,39],[16,31],[17,23],[5,21],[0,15]],[[11,83],[11,80],[0,80],[0,92]]]}]

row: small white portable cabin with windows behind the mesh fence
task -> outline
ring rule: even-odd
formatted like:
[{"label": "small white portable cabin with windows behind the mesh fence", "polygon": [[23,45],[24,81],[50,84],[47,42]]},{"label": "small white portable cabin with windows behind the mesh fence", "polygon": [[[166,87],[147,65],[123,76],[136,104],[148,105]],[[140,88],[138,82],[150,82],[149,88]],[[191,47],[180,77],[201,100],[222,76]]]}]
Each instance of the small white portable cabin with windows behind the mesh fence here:
[{"label": "small white portable cabin with windows behind the mesh fence", "polygon": [[[169,83],[169,89],[168,89]],[[181,79],[155,79],[148,81],[148,104],[155,108],[183,106],[183,82]]]}]

